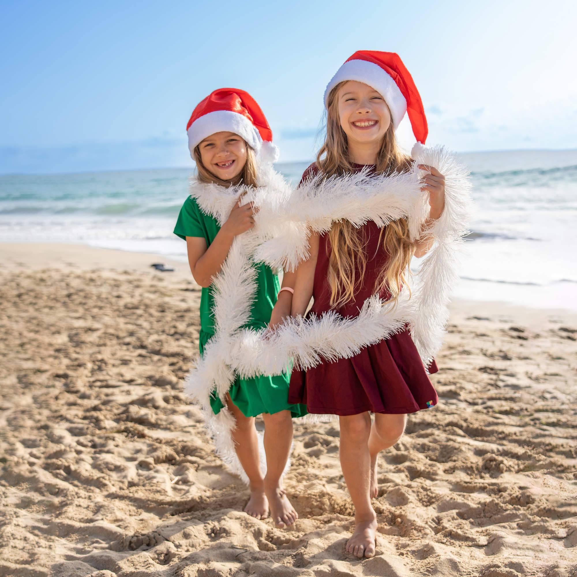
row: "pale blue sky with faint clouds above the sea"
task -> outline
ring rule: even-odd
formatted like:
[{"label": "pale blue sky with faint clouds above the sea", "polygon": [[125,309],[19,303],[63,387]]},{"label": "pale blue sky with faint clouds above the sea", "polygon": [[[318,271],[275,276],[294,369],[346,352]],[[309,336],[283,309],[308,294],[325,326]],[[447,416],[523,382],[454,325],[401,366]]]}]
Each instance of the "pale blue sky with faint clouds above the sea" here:
[{"label": "pale blue sky with faint clouds above the sea", "polygon": [[575,2],[0,6],[0,173],[190,166],[186,122],[223,86],[258,100],[280,160],[311,159],[324,87],[359,49],[403,58],[428,143],[577,148]]}]

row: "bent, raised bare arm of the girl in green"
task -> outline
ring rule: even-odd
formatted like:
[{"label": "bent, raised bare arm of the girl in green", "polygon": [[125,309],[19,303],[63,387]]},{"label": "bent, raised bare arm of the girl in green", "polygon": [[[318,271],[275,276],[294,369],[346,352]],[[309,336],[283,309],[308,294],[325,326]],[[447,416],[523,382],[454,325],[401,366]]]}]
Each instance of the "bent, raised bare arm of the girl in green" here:
[{"label": "bent, raised bare arm of the girl in green", "polygon": [[220,272],[234,237],[254,226],[254,213],[257,211],[258,208],[254,207],[253,203],[242,206],[235,204],[228,220],[220,227],[208,248],[204,238],[186,237],[190,272],[201,287],[211,286],[212,278]]}]

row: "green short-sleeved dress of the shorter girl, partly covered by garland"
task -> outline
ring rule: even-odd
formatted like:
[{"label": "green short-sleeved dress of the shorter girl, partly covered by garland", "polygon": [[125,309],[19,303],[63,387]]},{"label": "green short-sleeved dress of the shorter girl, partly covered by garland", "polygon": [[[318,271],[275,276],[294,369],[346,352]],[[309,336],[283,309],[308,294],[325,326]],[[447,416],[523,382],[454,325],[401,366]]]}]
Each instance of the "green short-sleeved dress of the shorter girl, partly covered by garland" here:
[{"label": "green short-sleeved dress of the shorter girl, partly covered by garland", "polygon": [[[180,238],[200,237],[207,241],[207,246],[215,239],[220,230],[217,220],[209,214],[201,211],[194,198],[188,197],[182,205],[178,215],[174,234]],[[270,267],[264,263],[254,265],[258,271],[257,293],[252,310],[250,322],[245,325],[254,329],[265,328],[271,320],[272,308],[276,303],[280,284]],[[204,354],[204,347],[215,334],[212,308],[214,306],[213,287],[202,289],[200,297],[200,354]],[[237,375],[234,383],[228,389],[233,403],[242,411],[245,417],[256,417],[262,413],[278,413],[290,410],[293,417],[306,415],[306,405],[288,403],[288,383],[290,374],[283,373],[276,376],[260,375],[251,379],[241,379]],[[211,395],[211,407],[215,414],[224,406],[222,401],[213,391]]]}]

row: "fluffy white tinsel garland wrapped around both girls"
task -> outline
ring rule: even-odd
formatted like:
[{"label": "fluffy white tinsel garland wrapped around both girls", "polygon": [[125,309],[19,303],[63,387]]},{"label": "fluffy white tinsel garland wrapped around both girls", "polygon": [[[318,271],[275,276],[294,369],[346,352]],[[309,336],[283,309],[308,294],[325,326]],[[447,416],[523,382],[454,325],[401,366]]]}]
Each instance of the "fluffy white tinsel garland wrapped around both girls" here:
[{"label": "fluffy white tinsel garland wrapped around both girls", "polygon": [[[363,347],[402,331],[407,324],[425,365],[439,350],[448,320],[449,293],[457,276],[456,253],[466,234],[470,183],[467,171],[443,147],[417,145],[413,159],[407,173],[371,175],[364,170],[328,179],[318,175],[296,190],[291,190],[270,166],[261,170],[258,182],[263,186],[258,189],[191,183],[191,196],[220,224],[243,192],[243,202],[254,201],[259,207],[254,228],[235,238],[213,281],[216,332],[186,384],[187,392],[203,404],[219,454],[245,481],[230,437],[234,418],[227,409],[214,415],[209,406],[211,391],[216,388],[224,400],[235,374],[245,378],[280,374],[291,360],[295,366],[308,369],[323,359],[351,357]],[[299,317],[280,325],[272,336],[243,328],[249,323],[256,291],[254,261],[294,269],[308,256],[308,227],[324,233],[336,220],[347,219],[355,226],[373,220],[382,227],[391,220],[407,218],[411,238],[422,235],[428,195],[421,191],[419,177],[424,171],[418,170],[417,164],[429,164],[444,175],[445,208],[424,233],[434,237],[436,244],[411,287],[412,298],[407,288],[396,303],[381,302],[374,295],[365,301],[358,317],[347,319],[335,312]]]}]

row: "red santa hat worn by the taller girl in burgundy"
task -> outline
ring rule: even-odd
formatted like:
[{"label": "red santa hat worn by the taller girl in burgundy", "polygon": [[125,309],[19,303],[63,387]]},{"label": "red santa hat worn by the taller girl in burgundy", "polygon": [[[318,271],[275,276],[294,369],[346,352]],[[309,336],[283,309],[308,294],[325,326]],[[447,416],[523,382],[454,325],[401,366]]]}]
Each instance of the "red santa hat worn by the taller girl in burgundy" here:
[{"label": "red santa hat worn by the taller girl in burgundy", "polygon": [[337,70],[324,94],[325,107],[331,90],[345,80],[356,80],[374,88],[388,104],[393,125],[398,128],[404,113],[409,113],[417,142],[425,144],[427,119],[419,91],[407,70],[394,52],[358,50]]}]

